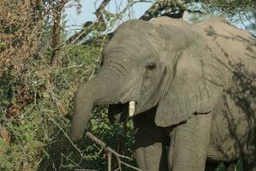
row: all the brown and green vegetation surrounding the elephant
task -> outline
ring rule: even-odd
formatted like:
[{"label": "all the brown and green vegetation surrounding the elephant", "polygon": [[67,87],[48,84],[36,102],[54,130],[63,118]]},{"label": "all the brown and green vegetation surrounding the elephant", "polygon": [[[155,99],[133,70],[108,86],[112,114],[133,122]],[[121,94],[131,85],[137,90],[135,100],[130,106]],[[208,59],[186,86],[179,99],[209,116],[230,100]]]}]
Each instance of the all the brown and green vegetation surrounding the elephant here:
[{"label": "all the brown and green vegetation surrounding the elephant", "polygon": [[[86,22],[84,28],[68,40],[60,11],[74,3],[79,12],[79,0],[0,2],[0,170],[106,170],[103,149],[88,139],[74,145],[67,133],[74,91],[97,73],[102,47],[110,37],[102,32],[110,32],[128,15],[128,9],[134,5],[131,2],[135,1],[129,2],[119,14],[113,15],[104,10],[110,0],[104,0],[96,10],[97,21]],[[152,3],[151,9],[157,2]],[[143,16],[152,12],[153,17],[162,10],[165,13],[161,14],[166,14],[170,8],[171,14],[185,10],[179,1],[169,2],[174,5],[165,5],[154,13],[148,10]],[[210,2],[214,8],[229,7],[223,12],[255,7],[249,0],[247,3],[227,1],[236,2],[232,3],[233,9],[224,1]],[[89,41],[77,44],[88,37]],[[112,148],[127,139],[124,155],[130,156],[132,160],[127,162],[135,166],[132,121],[128,121],[128,131],[124,133],[122,124],[110,124],[106,110],[105,106],[93,110],[89,131]]]}]

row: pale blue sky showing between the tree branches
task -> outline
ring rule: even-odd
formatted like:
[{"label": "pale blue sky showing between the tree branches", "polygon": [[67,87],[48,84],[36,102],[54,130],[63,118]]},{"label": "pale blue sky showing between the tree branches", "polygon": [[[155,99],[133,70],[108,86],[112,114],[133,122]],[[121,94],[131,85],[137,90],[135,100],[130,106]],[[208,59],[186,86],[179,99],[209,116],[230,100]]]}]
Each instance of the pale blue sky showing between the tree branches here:
[{"label": "pale blue sky showing between the tree branches", "polygon": [[[82,25],[86,21],[95,21],[96,15],[94,15],[93,13],[97,9],[96,7],[98,7],[99,4],[102,3],[102,1],[103,0],[80,0],[82,8],[81,13],[79,15],[76,14],[75,7],[66,9],[65,14],[67,15],[66,26],[68,27],[68,36],[71,36],[75,31],[80,30]],[[110,4],[106,7],[106,9],[111,13],[116,14],[116,7],[117,9],[119,8],[120,11],[122,8],[124,8],[126,4],[127,0],[112,0],[110,1]],[[145,13],[146,9],[149,9],[151,7],[151,5],[152,3],[136,3],[133,6],[133,15],[131,16],[131,18],[139,18],[141,15]],[[125,20],[128,20],[128,18],[124,18],[124,21]],[[232,23],[235,25],[235,27],[240,27],[242,29],[245,29],[244,25],[247,26],[250,24],[248,21],[238,21]],[[253,30],[251,32],[253,32],[254,35],[256,35],[256,30]]]}]

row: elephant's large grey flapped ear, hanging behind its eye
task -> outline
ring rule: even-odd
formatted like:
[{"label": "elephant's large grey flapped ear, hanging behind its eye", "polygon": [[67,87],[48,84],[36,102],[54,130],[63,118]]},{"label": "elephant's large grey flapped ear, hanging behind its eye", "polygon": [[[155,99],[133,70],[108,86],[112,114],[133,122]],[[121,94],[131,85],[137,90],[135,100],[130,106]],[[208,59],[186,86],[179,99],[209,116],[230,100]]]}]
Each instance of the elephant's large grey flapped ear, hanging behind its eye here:
[{"label": "elephant's large grey flapped ear, hanging behind its eye", "polygon": [[174,72],[173,78],[158,102],[155,117],[159,127],[179,124],[194,114],[209,113],[223,91],[218,62],[205,45],[198,47],[184,50],[169,71]]}]

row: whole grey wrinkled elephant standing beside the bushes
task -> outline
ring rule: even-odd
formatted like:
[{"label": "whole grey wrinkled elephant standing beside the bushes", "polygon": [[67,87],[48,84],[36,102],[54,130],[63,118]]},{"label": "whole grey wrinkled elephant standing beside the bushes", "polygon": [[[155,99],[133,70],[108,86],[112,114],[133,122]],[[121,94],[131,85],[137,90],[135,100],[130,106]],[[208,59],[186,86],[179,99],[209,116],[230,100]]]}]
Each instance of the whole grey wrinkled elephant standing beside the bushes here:
[{"label": "whole grey wrinkled elephant standing beside the bushes", "polygon": [[114,121],[135,101],[143,170],[200,171],[205,161],[238,156],[256,170],[255,42],[220,18],[126,21],[104,48],[98,75],[75,93],[70,139],[82,138],[93,104],[110,104]]}]

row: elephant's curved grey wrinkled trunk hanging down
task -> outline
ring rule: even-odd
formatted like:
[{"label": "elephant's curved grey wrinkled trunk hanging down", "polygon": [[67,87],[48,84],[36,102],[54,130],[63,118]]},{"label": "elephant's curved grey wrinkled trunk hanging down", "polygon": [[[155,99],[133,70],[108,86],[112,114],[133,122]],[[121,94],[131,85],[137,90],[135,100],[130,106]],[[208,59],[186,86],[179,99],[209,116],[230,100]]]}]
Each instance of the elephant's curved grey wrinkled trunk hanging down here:
[{"label": "elephant's curved grey wrinkled trunk hanging down", "polygon": [[75,92],[74,115],[69,134],[73,142],[82,138],[91,118],[93,103],[117,103],[118,86],[113,77],[103,72],[80,85]]}]

